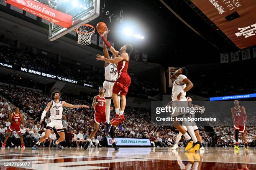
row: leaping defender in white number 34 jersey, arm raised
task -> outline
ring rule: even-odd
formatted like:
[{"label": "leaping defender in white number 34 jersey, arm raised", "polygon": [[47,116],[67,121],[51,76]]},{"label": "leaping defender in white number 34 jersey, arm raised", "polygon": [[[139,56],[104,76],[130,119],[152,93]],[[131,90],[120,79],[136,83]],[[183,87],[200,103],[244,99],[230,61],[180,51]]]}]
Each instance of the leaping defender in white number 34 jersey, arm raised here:
[{"label": "leaping defender in white number 34 jersey, arm raised", "polygon": [[[107,39],[108,32],[110,30],[107,29],[106,34],[104,35],[105,38]],[[108,53],[108,48],[103,43],[103,54],[105,58],[110,58],[109,53]],[[115,55],[111,56],[111,59],[115,59]],[[106,100],[106,134],[109,133],[110,128],[111,128],[111,123],[110,123],[110,105],[111,105],[111,99],[112,99],[112,90],[113,90],[113,85],[115,80],[118,77],[118,72],[117,72],[117,63],[112,64],[109,62],[105,62],[105,81],[103,82],[103,88],[105,89],[105,100]],[[120,93],[118,94],[118,99],[120,103]],[[121,126],[118,126],[120,130],[122,130]]]}]

